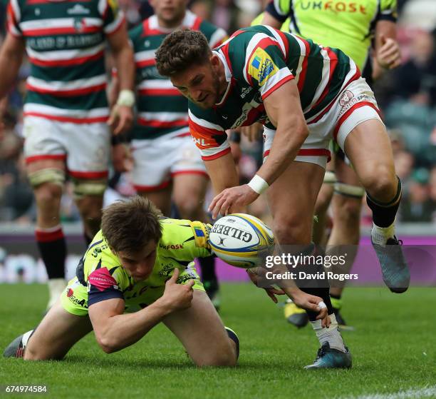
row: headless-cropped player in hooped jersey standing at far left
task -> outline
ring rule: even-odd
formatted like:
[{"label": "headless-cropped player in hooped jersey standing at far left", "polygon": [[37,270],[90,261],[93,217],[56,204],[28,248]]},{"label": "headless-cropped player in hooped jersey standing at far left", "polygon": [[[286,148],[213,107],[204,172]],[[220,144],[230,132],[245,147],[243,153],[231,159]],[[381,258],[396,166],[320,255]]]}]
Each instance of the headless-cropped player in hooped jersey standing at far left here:
[{"label": "headless-cropped player in hooped jersey standing at far left", "polygon": [[[50,308],[66,285],[66,241],[59,218],[66,173],[89,243],[100,228],[108,124],[120,133],[133,120],[133,51],[116,0],[12,0],[7,27],[0,51],[0,99],[15,83],[24,49],[31,64],[24,156],[36,198],[36,242],[48,274]],[[120,96],[111,116],[105,92],[106,40],[121,71]]]}]

